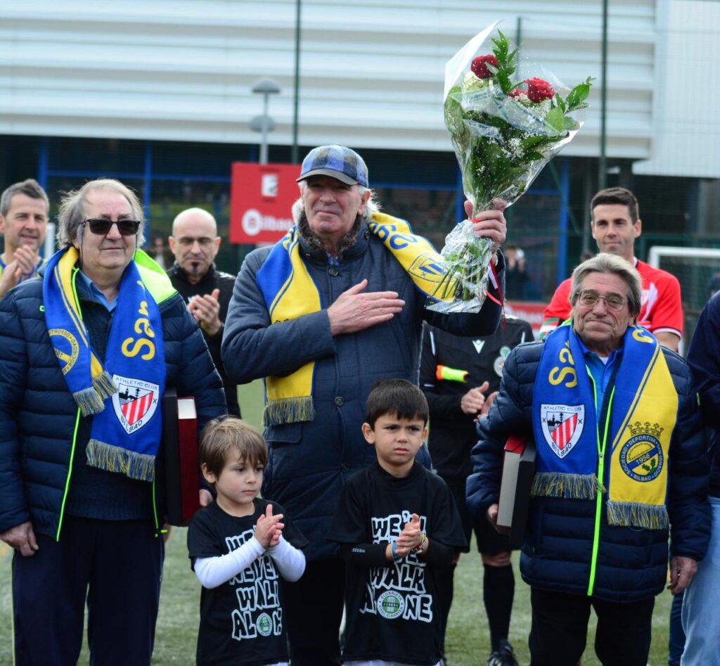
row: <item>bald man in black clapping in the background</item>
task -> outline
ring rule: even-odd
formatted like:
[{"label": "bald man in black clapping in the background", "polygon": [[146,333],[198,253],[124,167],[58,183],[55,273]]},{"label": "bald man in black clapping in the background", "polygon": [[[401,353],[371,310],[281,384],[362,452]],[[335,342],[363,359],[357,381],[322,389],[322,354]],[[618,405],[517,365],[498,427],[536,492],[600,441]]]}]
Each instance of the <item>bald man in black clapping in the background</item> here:
[{"label": "bald man in black clapping in the background", "polygon": [[228,379],[220,358],[222,329],[235,276],[215,268],[215,256],[220,249],[215,217],[202,208],[188,208],[175,218],[173,235],[168,240],[175,256],[168,276],[202,328],[212,361],[222,377],[228,413],[240,416],[238,387]]}]

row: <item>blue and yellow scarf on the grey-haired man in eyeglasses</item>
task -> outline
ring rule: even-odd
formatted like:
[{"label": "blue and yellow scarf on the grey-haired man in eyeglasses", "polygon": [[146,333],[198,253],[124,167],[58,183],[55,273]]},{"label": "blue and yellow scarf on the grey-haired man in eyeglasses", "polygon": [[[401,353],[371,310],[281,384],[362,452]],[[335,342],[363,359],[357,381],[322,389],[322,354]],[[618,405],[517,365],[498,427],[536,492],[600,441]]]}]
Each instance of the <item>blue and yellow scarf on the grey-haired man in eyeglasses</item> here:
[{"label": "blue and yellow scarf on the grey-haired man in eyeglasses", "polygon": [[[594,499],[608,492],[608,523],[667,528],[667,455],[678,394],[657,340],[640,326],[623,338],[606,418],[572,324],[546,339],[533,393],[537,473],[533,494]],[[603,486],[611,443],[608,489]]]}]

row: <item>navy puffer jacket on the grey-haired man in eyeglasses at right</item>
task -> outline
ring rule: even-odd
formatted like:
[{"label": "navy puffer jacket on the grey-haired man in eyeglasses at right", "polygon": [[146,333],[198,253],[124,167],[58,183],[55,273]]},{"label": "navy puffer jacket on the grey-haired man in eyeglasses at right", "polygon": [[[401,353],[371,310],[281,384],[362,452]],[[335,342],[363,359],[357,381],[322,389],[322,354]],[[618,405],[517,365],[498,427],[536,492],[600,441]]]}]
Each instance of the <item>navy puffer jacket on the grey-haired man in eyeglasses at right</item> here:
[{"label": "navy puffer jacket on the grey-haired man in eyeglasses at right", "polygon": [[[529,343],[510,352],[500,393],[487,418],[478,424],[480,441],[472,451],[474,473],[467,480],[467,502],[477,518],[484,518],[487,507],[498,501],[508,436],[532,432],[531,404],[542,349],[542,343]],[[662,351],[679,400],[669,456],[671,554],[699,561],[706,554],[710,536],[705,433],[688,366],[678,354],[666,348]],[[610,454],[608,446],[606,470],[610,469]],[[607,487],[607,478],[604,483]],[[532,500],[520,560],[528,585],[588,593],[595,506],[595,500]],[[593,595],[608,601],[634,601],[662,592],[667,580],[667,530],[610,526],[606,513],[603,498]]]}]

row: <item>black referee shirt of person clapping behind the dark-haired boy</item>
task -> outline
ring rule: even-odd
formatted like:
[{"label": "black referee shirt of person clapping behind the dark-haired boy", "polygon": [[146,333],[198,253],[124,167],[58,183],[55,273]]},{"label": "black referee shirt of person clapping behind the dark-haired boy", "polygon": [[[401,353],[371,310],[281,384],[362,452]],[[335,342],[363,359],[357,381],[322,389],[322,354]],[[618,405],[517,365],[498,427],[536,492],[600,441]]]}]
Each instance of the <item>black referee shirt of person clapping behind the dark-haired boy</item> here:
[{"label": "black referee shirt of person clapping behind the dark-haired boy", "polygon": [[[428,447],[438,474],[463,480],[472,472],[470,451],[477,443],[474,416],[466,414],[460,400],[482,382],[490,384],[485,395],[500,388],[505,358],[523,342],[533,341],[533,330],[525,320],[508,317],[491,336],[462,338],[446,330],[425,325],[420,363],[420,388],[430,406]],[[438,365],[468,372],[465,382],[438,379]]]}]

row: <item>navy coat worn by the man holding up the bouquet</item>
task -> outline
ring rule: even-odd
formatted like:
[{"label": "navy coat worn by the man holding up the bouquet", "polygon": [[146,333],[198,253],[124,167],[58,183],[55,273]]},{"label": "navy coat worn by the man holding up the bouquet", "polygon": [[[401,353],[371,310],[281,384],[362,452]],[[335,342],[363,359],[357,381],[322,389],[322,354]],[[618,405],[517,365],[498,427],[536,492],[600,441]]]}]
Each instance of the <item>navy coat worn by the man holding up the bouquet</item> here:
[{"label": "navy coat worn by the man holding up the bouquet", "polygon": [[[374,448],[361,431],[373,382],[418,383],[423,319],[457,335],[482,336],[497,327],[500,307],[488,299],[477,314],[439,315],[426,310],[426,298],[364,223],[338,266],[328,263],[325,252],[312,251],[302,240],[300,244],[323,310],[271,324],[256,283],[271,248],[253,251],[235,282],[222,362],[228,376],[243,384],[258,377],[284,376],[315,361],[315,419],[266,428],[270,457],[263,485],[264,497],[281,504],[310,541],[305,554],[312,560],[339,557],[337,545],[325,536],[340,491],[351,474],[375,460]],[[503,268],[500,262],[498,269]],[[500,279],[503,275],[504,271]],[[333,337],[325,308],[364,278],[367,292],[397,292],[405,307],[390,321]]]}]

